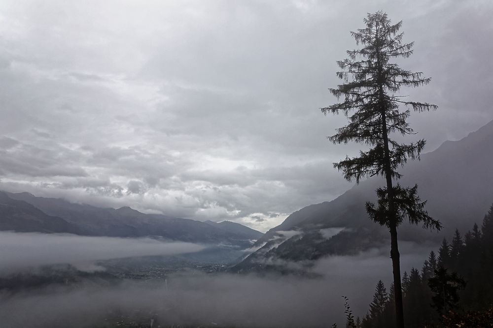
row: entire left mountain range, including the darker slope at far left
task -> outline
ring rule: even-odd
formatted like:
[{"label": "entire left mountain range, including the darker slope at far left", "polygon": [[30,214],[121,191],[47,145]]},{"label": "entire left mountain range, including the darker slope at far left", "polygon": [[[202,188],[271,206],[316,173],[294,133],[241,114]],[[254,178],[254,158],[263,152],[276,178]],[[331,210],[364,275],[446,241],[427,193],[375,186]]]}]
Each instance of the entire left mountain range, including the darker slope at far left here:
[{"label": "entire left mountain range, including the darker slope at far left", "polygon": [[[1,194],[4,198],[1,203],[15,206],[10,211],[4,207],[5,210],[0,213],[0,222],[3,222],[0,230],[111,237],[158,236],[170,240],[230,245],[238,249],[248,248],[252,244],[251,229],[242,229],[240,224],[233,224],[235,228],[225,229],[225,225],[221,224],[214,226],[191,219],[144,214],[129,207],[99,208],[70,203],[59,198],[36,197],[26,192]],[[28,210],[34,214],[17,214],[27,213]]]}]

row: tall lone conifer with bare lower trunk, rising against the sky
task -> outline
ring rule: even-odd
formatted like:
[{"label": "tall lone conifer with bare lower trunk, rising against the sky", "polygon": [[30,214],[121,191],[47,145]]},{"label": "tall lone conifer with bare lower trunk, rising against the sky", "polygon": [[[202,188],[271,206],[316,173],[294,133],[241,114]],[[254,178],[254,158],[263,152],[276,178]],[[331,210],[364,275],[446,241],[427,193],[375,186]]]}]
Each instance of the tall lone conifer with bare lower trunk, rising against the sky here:
[{"label": "tall lone conifer with bare lower trunk, rising against the sky", "polygon": [[[368,14],[364,19],[366,28],[351,32],[361,49],[349,50],[348,59],[337,62],[341,71],[337,76],[344,81],[337,89],[330,89],[340,103],[321,108],[324,114],[342,112],[349,123],[337,129],[329,139],[336,144],[354,141],[370,149],[360,151],[358,157],[346,158],[334,167],[343,171],[345,179],[356,183],[364,177],[381,175],[386,185],[377,189],[378,206],[367,203],[370,218],[386,226],[390,233],[390,257],[392,259],[393,283],[395,286],[396,327],[404,327],[402,289],[400,277],[400,255],[397,242],[397,227],[404,219],[423,228],[440,229],[437,220],[424,210],[426,202],[418,195],[418,186],[403,187],[395,183],[401,175],[397,168],[408,158],[419,159],[425,140],[411,144],[400,144],[392,136],[413,134],[407,119],[410,110],[399,110],[399,105],[412,107],[415,111],[435,110],[436,105],[406,101],[397,92],[401,87],[419,87],[430,82],[421,72],[400,68],[391,60],[407,58],[413,53],[413,42],[402,43],[399,33],[402,22],[391,24],[387,14],[379,11]],[[350,81],[350,77],[352,81]],[[350,111],[355,112],[350,115]]]}]

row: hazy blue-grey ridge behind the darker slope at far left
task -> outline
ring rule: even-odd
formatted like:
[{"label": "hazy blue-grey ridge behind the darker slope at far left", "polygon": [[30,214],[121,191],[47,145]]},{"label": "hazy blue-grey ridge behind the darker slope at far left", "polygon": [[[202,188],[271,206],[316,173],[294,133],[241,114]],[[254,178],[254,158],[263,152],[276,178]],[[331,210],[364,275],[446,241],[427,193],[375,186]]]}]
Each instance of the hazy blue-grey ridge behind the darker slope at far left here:
[{"label": "hazy blue-grey ridge behind the darker slope at far left", "polygon": [[[204,244],[230,244],[246,248],[251,241],[242,234],[210,224],[159,214],[145,214],[129,207],[98,208],[70,203],[58,198],[36,197],[30,193],[5,193],[9,198],[29,203],[44,213],[76,226],[81,234],[111,237],[159,236],[165,239]],[[67,231],[63,231],[67,232]]]}]

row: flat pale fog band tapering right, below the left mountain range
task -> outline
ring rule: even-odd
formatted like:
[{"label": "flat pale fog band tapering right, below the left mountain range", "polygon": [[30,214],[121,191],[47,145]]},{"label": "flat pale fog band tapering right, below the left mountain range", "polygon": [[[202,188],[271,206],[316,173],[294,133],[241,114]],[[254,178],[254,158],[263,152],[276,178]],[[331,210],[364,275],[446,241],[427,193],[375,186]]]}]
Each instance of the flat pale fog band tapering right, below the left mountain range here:
[{"label": "flat pale fog band tapering right, below the left mountain range", "polygon": [[203,246],[156,239],[84,237],[64,234],[0,232],[0,274],[52,264],[79,269],[102,269],[96,261],[125,257],[178,255],[198,252]]}]

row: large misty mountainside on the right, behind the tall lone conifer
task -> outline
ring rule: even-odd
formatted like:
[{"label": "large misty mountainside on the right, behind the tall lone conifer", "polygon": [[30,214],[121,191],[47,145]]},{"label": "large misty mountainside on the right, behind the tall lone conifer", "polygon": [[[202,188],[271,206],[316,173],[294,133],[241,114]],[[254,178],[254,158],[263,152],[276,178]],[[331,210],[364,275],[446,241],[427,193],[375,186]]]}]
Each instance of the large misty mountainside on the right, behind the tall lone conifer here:
[{"label": "large misty mountainside on the right, behind the tall lone conifer", "polygon": [[[401,185],[418,184],[429,214],[439,219],[440,233],[404,223],[400,240],[439,240],[458,228],[462,233],[480,222],[493,203],[493,121],[458,141],[446,141],[438,149],[411,161],[401,170]],[[331,202],[314,204],[289,215],[282,224],[257,240],[259,249],[239,264],[238,271],[266,268],[273,259],[301,261],[325,254],[353,253],[388,238],[387,229],[368,219],[366,201],[375,201],[375,190],[384,185],[374,177],[353,186]],[[339,234],[323,231],[344,228]],[[292,231],[291,236],[283,232]],[[378,237],[380,239],[375,239]],[[370,242],[373,240],[372,242]],[[336,242],[337,241],[337,242]],[[344,247],[341,247],[341,243]],[[310,255],[312,254],[312,255]]]}]

